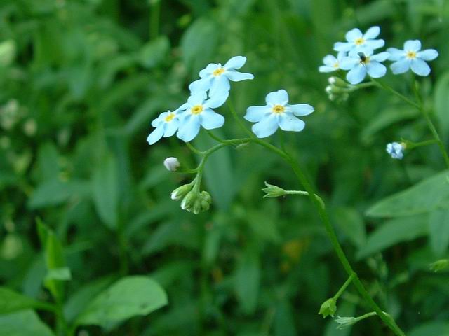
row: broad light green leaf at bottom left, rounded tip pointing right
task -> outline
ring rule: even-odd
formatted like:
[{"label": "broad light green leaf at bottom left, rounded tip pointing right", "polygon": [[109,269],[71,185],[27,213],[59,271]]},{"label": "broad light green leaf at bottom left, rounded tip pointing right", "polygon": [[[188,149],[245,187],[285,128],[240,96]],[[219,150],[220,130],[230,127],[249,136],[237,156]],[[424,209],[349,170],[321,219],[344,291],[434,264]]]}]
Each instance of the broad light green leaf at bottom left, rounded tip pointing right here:
[{"label": "broad light green leaf at bottom left, rounded tip pointing right", "polygon": [[76,319],[77,325],[107,328],[133,316],[145,316],[167,304],[167,295],[146,276],[127,276],[95,297]]}]

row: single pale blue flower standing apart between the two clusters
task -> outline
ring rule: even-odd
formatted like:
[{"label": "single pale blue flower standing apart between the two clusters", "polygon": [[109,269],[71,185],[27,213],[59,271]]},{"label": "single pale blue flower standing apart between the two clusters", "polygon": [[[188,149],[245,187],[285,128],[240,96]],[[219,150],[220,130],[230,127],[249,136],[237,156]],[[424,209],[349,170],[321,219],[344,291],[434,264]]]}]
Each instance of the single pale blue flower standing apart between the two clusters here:
[{"label": "single pale blue flower standing apart between the two clusters", "polygon": [[284,131],[300,132],[304,129],[304,121],[295,116],[307,116],[314,111],[308,104],[288,104],[286,90],[270,92],[265,98],[267,105],[250,106],[246,109],[245,119],[256,123],[253,132],[258,138],[269,137],[278,127]]}]

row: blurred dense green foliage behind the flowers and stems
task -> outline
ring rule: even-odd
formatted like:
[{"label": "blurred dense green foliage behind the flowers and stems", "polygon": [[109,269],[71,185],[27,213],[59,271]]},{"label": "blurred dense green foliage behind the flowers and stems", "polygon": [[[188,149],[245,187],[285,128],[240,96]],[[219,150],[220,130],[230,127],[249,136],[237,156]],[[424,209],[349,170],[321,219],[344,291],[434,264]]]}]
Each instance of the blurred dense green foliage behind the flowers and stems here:
[{"label": "blurred dense green foliage behind the flowers and stems", "polygon": [[[215,153],[203,183],[213,207],[204,214],[170,200],[192,176],[167,172],[163,159],[193,167],[198,158],[175,137],[148,146],[149,123],[187,99],[199,69],[245,55],[243,69],[255,79],[232,85],[239,114],[279,88],[290,102],[316,108],[304,132],[283,139],[278,132],[271,141],[283,141],[307,167],[382,308],[410,336],[449,335],[449,277],[428,270],[447,255],[438,236],[449,223],[432,231],[425,211],[394,220],[394,211],[366,214],[441,172],[438,148],[391,160],[387,142],[430,139],[420,114],[376,89],[330,102],[327,77],[317,71],[347,30],[372,25],[387,46],[420,38],[440,53],[420,83],[446,141],[445,0],[2,0],[0,282],[51,302],[42,286],[39,216],[64,246],[72,280],[63,300],[72,310],[81,309],[73,306],[79,290],[93,296],[126,274],[152,276],[168,293],[166,307],[103,331],[83,327],[89,335],[392,335],[377,318],[335,330],[317,314],[346,276],[306,197],[262,200],[264,181],[301,188],[272,153],[254,145]],[[408,75],[382,80],[410,94]],[[218,111],[227,123],[216,134],[241,137],[226,106]],[[214,142],[201,133],[194,144]],[[436,197],[429,188],[415,194],[408,197],[424,203]],[[340,316],[367,311],[352,287],[339,300]],[[53,326],[53,314],[39,310],[39,317]]]}]

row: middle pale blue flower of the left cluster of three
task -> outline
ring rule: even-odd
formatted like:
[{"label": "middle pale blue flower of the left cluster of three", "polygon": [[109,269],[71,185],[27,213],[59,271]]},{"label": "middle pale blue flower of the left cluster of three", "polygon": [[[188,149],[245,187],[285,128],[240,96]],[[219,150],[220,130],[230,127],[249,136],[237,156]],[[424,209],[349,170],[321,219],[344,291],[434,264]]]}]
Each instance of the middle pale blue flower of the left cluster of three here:
[{"label": "middle pale blue flower of the left cluster of three", "polygon": [[177,137],[187,142],[196,137],[200,125],[206,130],[222,127],[225,117],[215,113],[213,109],[222,106],[229,96],[229,91],[207,97],[206,91],[193,92],[187,103],[180,106],[180,128]]}]

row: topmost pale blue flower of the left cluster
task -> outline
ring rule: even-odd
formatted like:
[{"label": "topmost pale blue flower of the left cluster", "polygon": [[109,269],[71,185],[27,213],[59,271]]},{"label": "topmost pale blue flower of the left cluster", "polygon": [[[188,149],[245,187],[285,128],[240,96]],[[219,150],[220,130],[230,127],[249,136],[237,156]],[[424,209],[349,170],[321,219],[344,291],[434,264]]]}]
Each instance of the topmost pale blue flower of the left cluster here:
[{"label": "topmost pale blue flower of the left cluster", "polygon": [[246,57],[235,56],[229,59],[225,65],[221,63],[210,63],[205,69],[199,71],[201,79],[195,80],[189,85],[191,92],[210,90],[210,96],[220,92],[229,91],[229,80],[239,82],[241,80],[253,79],[251,73],[236,71],[246,63]]}]

